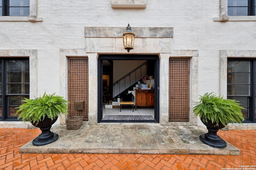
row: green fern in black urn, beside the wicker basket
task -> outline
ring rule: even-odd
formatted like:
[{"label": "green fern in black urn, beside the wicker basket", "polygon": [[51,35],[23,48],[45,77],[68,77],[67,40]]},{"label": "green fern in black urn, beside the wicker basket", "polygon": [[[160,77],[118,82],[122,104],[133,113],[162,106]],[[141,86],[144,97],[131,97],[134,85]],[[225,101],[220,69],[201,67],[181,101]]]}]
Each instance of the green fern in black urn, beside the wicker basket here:
[{"label": "green fern in black urn, beside the wicker basket", "polygon": [[18,119],[30,121],[35,127],[39,127],[42,133],[36,137],[32,144],[35,146],[47,145],[58,139],[58,134],[50,131],[52,125],[61,114],[68,113],[68,101],[61,96],[46,94],[35,99],[23,100],[23,104],[16,111],[20,113]]}]

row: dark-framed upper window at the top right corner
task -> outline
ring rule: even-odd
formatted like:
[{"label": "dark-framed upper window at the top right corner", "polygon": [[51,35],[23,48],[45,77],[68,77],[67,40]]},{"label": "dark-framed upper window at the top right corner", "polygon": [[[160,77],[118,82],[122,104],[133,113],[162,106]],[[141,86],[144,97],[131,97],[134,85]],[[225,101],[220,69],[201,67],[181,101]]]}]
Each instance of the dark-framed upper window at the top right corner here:
[{"label": "dark-framed upper window at the top right corner", "polygon": [[228,16],[255,16],[256,0],[228,0]]}]

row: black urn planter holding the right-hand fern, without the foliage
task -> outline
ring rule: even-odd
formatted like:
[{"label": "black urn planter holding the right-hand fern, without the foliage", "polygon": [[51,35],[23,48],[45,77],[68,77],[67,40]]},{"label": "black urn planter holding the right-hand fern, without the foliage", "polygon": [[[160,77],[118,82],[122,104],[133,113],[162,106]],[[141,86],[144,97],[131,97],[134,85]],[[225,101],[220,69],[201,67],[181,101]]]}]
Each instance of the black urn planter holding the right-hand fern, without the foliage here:
[{"label": "black urn planter holding the right-hand fern, without the foliage", "polygon": [[[202,118],[201,118],[202,121]],[[218,135],[217,132],[219,131],[219,129],[224,128],[225,126],[219,122],[219,125],[216,126],[216,123],[212,123],[212,121],[208,120],[208,122],[204,122],[204,125],[206,125],[207,129],[208,129],[208,133],[205,133],[203,135],[200,135],[200,141],[202,141],[202,143],[205,143],[206,145],[209,145],[211,147],[216,147],[216,148],[225,148],[227,147],[226,142],[221,139]]]}]

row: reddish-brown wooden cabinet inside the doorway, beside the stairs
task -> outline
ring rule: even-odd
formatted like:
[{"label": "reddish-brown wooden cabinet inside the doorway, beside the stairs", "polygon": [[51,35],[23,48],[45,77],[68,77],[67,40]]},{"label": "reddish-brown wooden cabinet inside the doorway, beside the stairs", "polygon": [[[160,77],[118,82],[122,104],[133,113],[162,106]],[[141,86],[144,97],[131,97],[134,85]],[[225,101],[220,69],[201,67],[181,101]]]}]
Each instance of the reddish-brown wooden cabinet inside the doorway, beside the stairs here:
[{"label": "reddish-brown wooden cabinet inside the doorway, beside the stairs", "polygon": [[135,90],[135,110],[137,106],[154,106],[154,90]]}]

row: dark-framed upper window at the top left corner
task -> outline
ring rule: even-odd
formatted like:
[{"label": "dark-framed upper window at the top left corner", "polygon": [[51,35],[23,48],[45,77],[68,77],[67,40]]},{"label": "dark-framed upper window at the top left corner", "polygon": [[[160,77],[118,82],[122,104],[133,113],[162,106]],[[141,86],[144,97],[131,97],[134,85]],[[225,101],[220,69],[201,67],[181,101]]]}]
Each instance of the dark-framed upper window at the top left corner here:
[{"label": "dark-framed upper window at the top left corner", "polygon": [[29,0],[0,0],[0,16],[29,16]]}]

